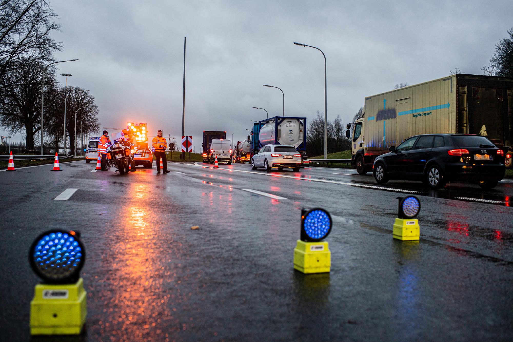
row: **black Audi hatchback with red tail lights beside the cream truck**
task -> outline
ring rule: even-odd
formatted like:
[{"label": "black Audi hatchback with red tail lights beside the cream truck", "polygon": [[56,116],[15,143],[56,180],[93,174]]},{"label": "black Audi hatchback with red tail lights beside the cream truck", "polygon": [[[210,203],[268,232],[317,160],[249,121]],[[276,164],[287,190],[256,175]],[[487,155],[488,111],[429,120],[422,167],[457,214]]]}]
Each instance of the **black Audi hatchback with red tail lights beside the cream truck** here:
[{"label": "black Audi hatchback with red tail lights beside the cream truck", "polygon": [[477,182],[491,189],[504,178],[504,151],[488,138],[470,134],[414,136],[374,160],[378,183],[420,180],[431,188],[447,181]]}]

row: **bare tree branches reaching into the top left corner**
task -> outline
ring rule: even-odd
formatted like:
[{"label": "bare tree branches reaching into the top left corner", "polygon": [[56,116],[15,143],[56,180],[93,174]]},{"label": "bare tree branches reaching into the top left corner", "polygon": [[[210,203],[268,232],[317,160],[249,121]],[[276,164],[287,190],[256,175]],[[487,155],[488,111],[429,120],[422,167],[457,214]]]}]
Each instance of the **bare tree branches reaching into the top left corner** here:
[{"label": "bare tree branches reaching into the top left corner", "polygon": [[47,0],[0,0],[0,79],[30,61],[52,60],[61,50],[50,33],[60,29]]}]

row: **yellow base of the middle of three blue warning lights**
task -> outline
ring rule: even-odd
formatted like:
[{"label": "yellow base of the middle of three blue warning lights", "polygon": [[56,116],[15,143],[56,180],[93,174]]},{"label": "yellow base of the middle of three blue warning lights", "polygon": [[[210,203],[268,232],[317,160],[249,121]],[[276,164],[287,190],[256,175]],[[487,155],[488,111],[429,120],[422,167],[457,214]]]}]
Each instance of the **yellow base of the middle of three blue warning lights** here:
[{"label": "yellow base of the middle of three blue warning lights", "polygon": [[328,242],[298,240],[294,248],[294,269],[303,273],[326,273],[331,268]]}]

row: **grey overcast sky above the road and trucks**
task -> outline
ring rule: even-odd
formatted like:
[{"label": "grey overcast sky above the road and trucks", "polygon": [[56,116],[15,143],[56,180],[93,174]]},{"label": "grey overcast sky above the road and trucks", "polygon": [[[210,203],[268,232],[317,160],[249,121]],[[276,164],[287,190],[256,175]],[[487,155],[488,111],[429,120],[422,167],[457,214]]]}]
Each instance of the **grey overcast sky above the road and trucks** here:
[{"label": "grey overcast sky above the road and trucks", "polygon": [[[104,1],[51,0],[68,85],[90,89],[101,127],[147,122],[150,135],[185,135],[196,152],[203,130],[243,140],[250,120],[282,115],[348,122],[364,98],[396,83],[482,74],[513,27],[512,1]],[[64,78],[57,77],[64,84]],[[110,130],[112,131],[112,130]],[[17,135],[13,141],[22,140]]]}]

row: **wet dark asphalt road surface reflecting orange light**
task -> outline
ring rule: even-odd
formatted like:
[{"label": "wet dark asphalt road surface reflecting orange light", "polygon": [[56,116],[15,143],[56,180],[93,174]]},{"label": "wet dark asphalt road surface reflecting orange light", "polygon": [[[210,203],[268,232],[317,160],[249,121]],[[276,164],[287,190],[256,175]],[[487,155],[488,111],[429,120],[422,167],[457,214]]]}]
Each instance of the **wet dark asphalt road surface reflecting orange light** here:
[{"label": "wet dark asphalt road surface reflecting orange light", "polygon": [[[32,340],[511,340],[513,182],[383,189],[351,169],[202,165],[0,172],[2,339],[31,339],[28,249],[60,227],[86,246],[86,329]],[[78,190],[53,200],[67,188]],[[407,192],[422,203],[419,242],[392,239]],[[334,221],[331,273],[303,275],[293,249],[300,209],[314,206]]]}]

